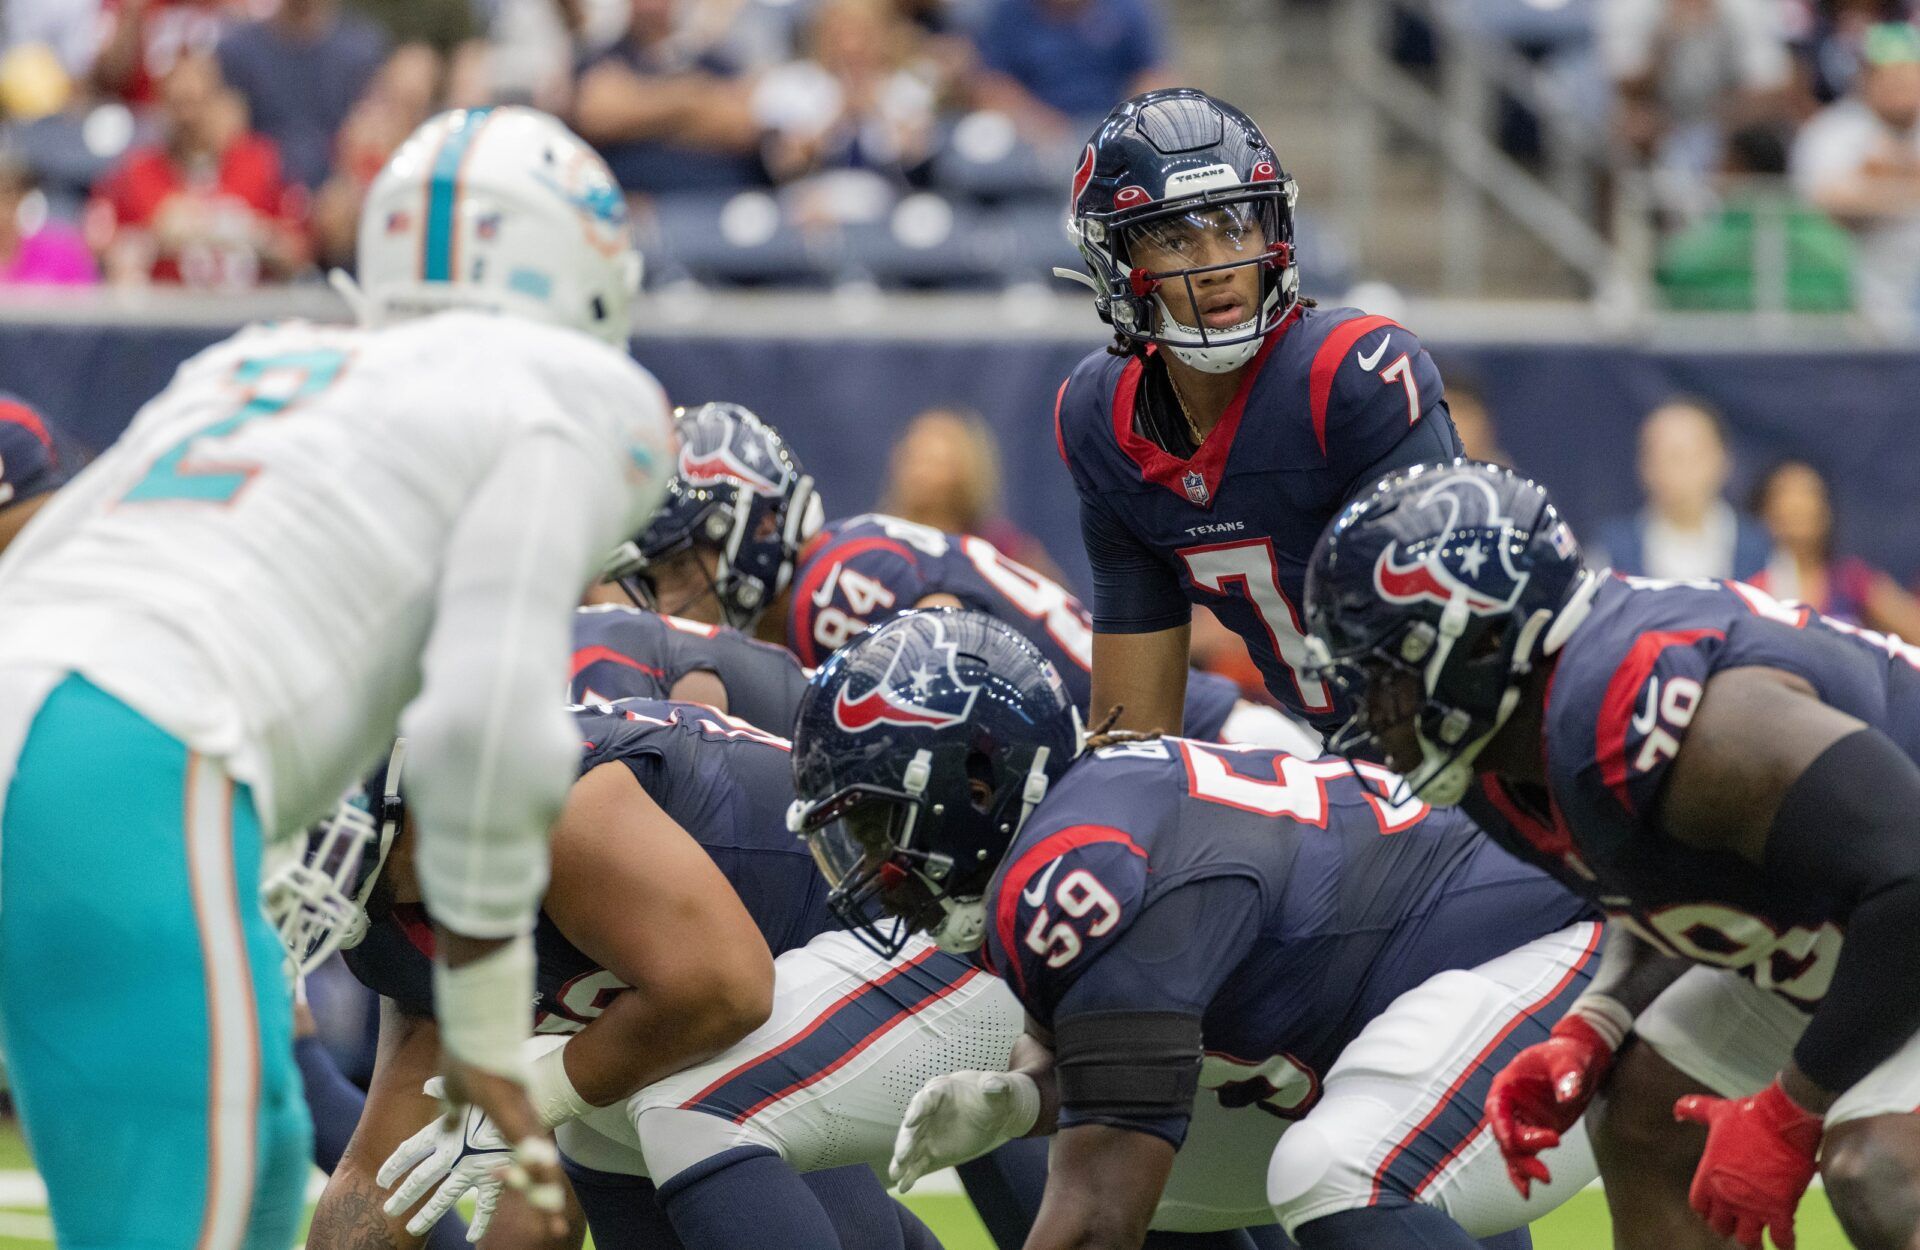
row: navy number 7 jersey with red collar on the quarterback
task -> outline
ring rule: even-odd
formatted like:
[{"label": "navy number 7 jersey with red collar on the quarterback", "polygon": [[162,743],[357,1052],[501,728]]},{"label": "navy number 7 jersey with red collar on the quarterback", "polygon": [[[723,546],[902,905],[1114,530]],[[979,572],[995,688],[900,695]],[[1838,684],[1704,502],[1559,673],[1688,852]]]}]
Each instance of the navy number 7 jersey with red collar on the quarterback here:
[{"label": "navy number 7 jersey with red collar on the quarterback", "polygon": [[1300,309],[1181,459],[1140,434],[1148,369],[1162,365],[1096,351],[1054,401],[1060,457],[1081,497],[1094,628],[1169,630],[1204,603],[1246,641],[1283,707],[1338,726],[1342,701],[1300,672],[1308,559],[1340,505],[1388,469],[1459,455],[1440,373],[1386,317]]}]

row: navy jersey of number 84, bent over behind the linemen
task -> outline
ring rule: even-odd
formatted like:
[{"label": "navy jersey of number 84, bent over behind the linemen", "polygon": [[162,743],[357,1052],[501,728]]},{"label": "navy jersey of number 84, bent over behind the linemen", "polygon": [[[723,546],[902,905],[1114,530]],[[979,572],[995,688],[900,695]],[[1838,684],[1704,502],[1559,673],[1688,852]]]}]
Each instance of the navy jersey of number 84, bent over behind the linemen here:
[{"label": "navy jersey of number 84, bent over behind the linemen", "polygon": [[[985,538],[868,513],[835,520],[801,553],[787,645],[818,668],[872,626],[927,595],[952,595],[1020,630],[1060,670],[1073,705],[1092,695],[1092,620],[1064,586],[1008,559]],[[1240,691],[1210,672],[1187,676],[1188,737],[1215,739]]]}]

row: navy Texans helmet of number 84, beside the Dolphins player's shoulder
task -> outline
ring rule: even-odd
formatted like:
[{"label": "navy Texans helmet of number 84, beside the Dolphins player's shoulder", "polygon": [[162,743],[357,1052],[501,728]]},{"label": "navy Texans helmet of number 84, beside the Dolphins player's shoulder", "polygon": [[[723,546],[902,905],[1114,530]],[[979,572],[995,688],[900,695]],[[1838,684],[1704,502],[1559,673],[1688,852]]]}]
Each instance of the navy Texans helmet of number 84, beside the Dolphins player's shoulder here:
[{"label": "navy Texans helmet of number 84, beside the Dolphins player's shoulder", "polygon": [[785,440],[737,403],[703,403],[678,413],[680,467],[647,528],[622,543],[607,565],[645,609],[662,605],[649,568],[670,555],[705,547],[718,553],[710,589],[726,622],[753,630],[787,589],[808,538],[826,524],[814,480]]}]

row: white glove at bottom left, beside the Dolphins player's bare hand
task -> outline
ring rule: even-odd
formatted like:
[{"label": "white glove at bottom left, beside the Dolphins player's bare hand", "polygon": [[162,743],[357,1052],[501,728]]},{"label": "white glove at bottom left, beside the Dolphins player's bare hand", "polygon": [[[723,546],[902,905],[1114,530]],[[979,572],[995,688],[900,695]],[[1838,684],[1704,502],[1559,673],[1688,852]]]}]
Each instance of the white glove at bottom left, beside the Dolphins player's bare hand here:
[{"label": "white glove at bottom left, beside the Dolphins player's bare hand", "polygon": [[[445,1081],[434,1077],[426,1083],[426,1093],[445,1100]],[[486,1237],[486,1229],[493,1221],[493,1210],[499,1206],[499,1194],[507,1187],[526,1190],[528,1202],[536,1210],[561,1210],[563,1198],[557,1187],[528,1185],[528,1173],[522,1166],[532,1162],[551,1164],[555,1158],[557,1152],[547,1139],[528,1137],[513,1144],[480,1108],[465,1106],[451,1125],[444,1119],[434,1119],[401,1142],[399,1150],[380,1166],[374,1181],[386,1189],[399,1181],[403,1173],[407,1175],[399,1189],[394,1190],[394,1196],[386,1200],[384,1210],[388,1215],[399,1215],[419,1202],[428,1189],[440,1185],[434,1196],[426,1200],[426,1206],[407,1221],[407,1231],[415,1237],[424,1237],[428,1229],[440,1223],[442,1215],[453,1210],[453,1204],[467,1190],[474,1190],[474,1219],[467,1225],[467,1240],[478,1242]]]}]

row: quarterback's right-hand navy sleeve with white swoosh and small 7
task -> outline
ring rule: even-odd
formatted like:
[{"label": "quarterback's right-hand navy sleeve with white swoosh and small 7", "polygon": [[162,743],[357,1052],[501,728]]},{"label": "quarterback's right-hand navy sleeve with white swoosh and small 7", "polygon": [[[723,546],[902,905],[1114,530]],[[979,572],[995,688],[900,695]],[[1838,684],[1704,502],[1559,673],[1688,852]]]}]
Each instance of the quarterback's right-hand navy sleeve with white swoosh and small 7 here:
[{"label": "quarterback's right-hand navy sleeve with white swoosh and small 7", "polygon": [[1402,444],[1421,453],[1409,465],[1428,453],[1455,455],[1459,440],[1444,399],[1440,371],[1411,330],[1365,315],[1336,325],[1313,353],[1308,378],[1313,438],[1338,493],[1327,505],[1363,488],[1375,467],[1394,469]]}]

